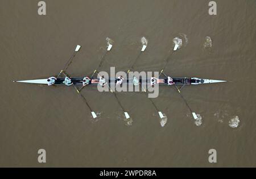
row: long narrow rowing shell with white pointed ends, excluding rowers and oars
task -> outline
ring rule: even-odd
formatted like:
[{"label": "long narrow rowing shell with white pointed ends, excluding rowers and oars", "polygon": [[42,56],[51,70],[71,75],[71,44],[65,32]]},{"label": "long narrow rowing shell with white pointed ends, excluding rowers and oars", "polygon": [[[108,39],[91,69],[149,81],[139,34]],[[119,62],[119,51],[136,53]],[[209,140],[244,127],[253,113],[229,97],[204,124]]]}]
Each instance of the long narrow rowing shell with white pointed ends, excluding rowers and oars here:
[{"label": "long narrow rowing shell with white pointed ends, excluding rowers and oars", "polygon": [[[54,85],[64,85],[63,81],[65,78],[57,78]],[[76,86],[82,86],[82,79],[83,77],[73,77],[71,78],[71,81]],[[200,84],[214,84],[219,82],[226,82],[224,80],[209,80],[209,79],[201,79],[201,78],[187,78],[187,77],[173,77],[172,78],[176,85],[200,85]],[[15,81],[15,82],[23,82],[27,84],[42,84],[47,85],[48,79],[37,79],[37,80],[23,80],[23,81]],[[159,83],[159,85],[168,85],[168,78],[159,78],[159,80],[163,81]],[[117,78],[106,78],[106,82],[108,82],[110,85],[115,85],[117,83]],[[150,78],[139,78],[140,84],[143,84],[143,82],[150,84]],[[88,86],[96,86],[99,83],[98,78],[92,78],[89,82]],[[133,85],[133,79],[127,79],[123,80],[122,85]]]}]

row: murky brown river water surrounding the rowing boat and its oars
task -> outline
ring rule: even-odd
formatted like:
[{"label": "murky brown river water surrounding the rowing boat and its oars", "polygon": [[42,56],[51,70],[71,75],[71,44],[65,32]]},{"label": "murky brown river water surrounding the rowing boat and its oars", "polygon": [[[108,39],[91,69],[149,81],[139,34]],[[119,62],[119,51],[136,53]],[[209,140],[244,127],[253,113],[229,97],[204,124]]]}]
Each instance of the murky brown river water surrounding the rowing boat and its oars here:
[{"label": "murky brown river water surrounding the rowing boat and its oars", "polygon": [[[254,0],[216,1],[217,15],[208,14],[209,1],[0,1],[0,166],[256,166]],[[167,116],[159,116],[144,93],[118,93],[133,123],[111,93],[82,91],[98,112],[93,119],[71,87],[18,84],[55,76],[77,44],[82,46],[67,70],[71,76],[91,74],[106,51],[100,70],[127,70],[141,50],[138,71],[163,67],[165,73],[230,82],[186,86],[181,90],[202,117],[196,126],[174,86],[160,87],[152,99]],[[205,37],[212,47],[205,47]],[[187,41],[186,41],[187,40]],[[229,126],[233,118],[238,127]],[[46,149],[46,164],[38,149]],[[208,161],[216,149],[217,163]]]}]

